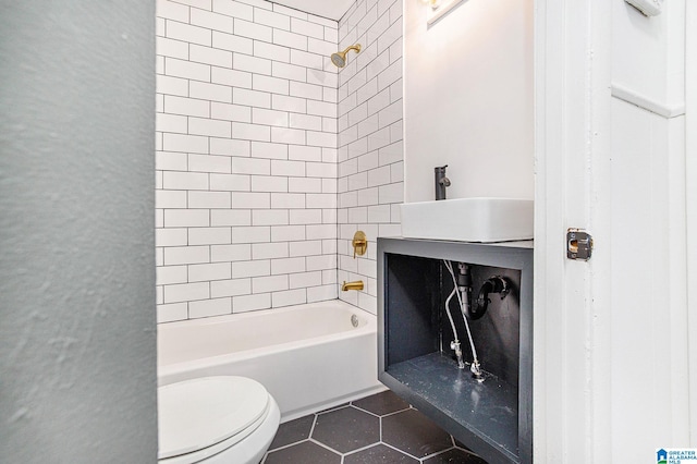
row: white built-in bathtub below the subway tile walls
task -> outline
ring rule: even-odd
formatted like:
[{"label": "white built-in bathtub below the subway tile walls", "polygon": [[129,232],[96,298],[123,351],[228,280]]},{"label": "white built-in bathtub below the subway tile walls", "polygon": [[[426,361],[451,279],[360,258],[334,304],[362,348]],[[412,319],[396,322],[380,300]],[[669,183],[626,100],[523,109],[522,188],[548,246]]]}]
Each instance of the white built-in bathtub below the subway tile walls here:
[{"label": "white built-in bathtub below the subway tile walls", "polygon": [[273,395],[282,422],[386,389],[376,317],[339,300],[160,323],[157,344],[160,386],[249,377]]}]

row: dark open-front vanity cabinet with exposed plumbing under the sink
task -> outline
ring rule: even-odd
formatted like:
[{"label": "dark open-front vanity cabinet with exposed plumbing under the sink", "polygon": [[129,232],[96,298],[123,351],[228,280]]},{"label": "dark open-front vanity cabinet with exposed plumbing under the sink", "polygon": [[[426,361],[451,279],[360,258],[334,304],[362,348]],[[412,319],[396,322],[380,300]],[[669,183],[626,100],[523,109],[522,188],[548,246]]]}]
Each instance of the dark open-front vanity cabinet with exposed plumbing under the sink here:
[{"label": "dark open-front vanity cabinet with exposed plumbing under the sink", "polygon": [[533,242],[378,239],[378,288],[380,381],[487,462],[531,463]]}]

